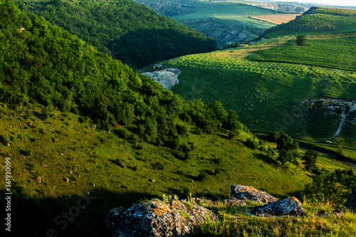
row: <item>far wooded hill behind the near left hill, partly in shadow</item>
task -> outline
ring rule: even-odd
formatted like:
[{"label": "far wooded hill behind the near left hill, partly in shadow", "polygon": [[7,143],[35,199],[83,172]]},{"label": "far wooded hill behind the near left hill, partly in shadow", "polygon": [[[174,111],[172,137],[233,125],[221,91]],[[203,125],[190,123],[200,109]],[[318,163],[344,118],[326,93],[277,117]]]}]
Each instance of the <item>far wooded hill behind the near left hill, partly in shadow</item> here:
[{"label": "far wooded hill behind the near left hill, partly in shadow", "polygon": [[15,0],[100,51],[136,68],[216,48],[213,38],[132,0]]}]

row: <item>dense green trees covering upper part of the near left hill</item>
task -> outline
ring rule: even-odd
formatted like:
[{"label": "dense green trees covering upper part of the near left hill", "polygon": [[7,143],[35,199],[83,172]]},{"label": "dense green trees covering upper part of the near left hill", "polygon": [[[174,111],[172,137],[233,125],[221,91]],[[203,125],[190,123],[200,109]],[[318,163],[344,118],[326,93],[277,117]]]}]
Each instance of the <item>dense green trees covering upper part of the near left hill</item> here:
[{"label": "dense green trees covering upper part of the near left hill", "polygon": [[0,102],[39,102],[91,117],[107,130],[135,124],[147,141],[159,137],[159,144],[176,141],[174,147],[183,120],[209,132],[244,127],[221,103],[186,102],[43,17],[19,11],[13,1],[0,3]]}]

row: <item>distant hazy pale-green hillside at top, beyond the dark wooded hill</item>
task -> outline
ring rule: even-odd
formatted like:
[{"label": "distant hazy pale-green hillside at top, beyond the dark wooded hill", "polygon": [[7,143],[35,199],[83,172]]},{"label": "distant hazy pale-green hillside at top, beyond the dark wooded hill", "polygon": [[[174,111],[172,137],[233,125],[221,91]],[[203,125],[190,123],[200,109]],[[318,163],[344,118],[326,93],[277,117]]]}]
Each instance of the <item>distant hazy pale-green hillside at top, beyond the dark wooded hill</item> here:
[{"label": "distant hazy pale-green hillside at top, beyond the dark wooded hill", "polygon": [[[253,19],[251,16],[286,14],[282,11],[250,6],[242,1],[211,1],[195,7],[193,13],[174,16],[179,22],[216,39],[219,47],[233,42],[244,43],[256,38],[275,23]],[[231,28],[233,27],[233,29]],[[239,31],[231,34],[231,30]]]}]

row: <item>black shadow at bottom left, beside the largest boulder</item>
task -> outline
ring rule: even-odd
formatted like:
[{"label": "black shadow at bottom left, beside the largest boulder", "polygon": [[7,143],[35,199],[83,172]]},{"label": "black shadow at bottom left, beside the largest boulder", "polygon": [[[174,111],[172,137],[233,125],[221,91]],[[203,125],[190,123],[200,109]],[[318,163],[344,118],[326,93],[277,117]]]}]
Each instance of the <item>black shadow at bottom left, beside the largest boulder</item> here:
[{"label": "black shadow at bottom left, beside the largest boulder", "polygon": [[[112,236],[105,225],[106,216],[111,209],[128,207],[141,199],[157,197],[144,191],[115,193],[93,189],[88,191],[89,194],[85,192],[74,196],[31,199],[21,195],[20,189],[17,192],[11,196],[9,236]],[[4,206],[4,199],[1,199],[1,204]]]}]

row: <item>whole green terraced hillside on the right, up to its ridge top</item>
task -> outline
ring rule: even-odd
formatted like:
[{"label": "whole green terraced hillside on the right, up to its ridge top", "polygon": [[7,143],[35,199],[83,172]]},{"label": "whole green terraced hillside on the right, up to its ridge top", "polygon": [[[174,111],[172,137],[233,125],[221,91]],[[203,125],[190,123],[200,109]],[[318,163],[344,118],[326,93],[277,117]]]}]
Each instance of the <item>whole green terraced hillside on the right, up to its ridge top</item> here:
[{"label": "whole green terraced hillside on the right, up to its ridge top", "polygon": [[[313,11],[325,22],[310,26],[305,22],[313,22],[308,17],[315,16],[305,14],[272,29],[264,41],[164,61],[183,70],[172,90],[186,99],[220,100],[256,132],[284,130],[310,142],[325,141],[333,136],[341,117],[337,112],[325,117],[328,111],[321,108],[310,112],[310,103],[323,97],[355,100],[355,13]],[[331,25],[335,31],[317,29]],[[306,35],[307,46],[292,46],[301,34]],[[354,113],[347,115],[336,142],[355,147]],[[355,154],[351,157],[355,159]]]}]

